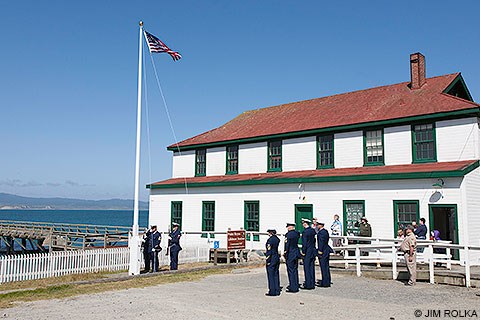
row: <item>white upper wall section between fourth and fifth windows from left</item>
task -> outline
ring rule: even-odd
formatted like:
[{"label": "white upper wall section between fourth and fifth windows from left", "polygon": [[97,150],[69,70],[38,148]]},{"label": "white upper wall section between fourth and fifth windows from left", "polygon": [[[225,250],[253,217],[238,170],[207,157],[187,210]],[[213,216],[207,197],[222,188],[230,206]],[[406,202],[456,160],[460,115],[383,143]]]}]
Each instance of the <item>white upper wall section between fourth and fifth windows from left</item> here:
[{"label": "white upper wall section between fourth and fifth windows from left", "polygon": [[334,136],[335,168],[363,167],[363,131]]}]

